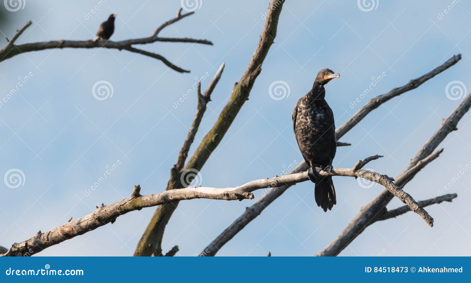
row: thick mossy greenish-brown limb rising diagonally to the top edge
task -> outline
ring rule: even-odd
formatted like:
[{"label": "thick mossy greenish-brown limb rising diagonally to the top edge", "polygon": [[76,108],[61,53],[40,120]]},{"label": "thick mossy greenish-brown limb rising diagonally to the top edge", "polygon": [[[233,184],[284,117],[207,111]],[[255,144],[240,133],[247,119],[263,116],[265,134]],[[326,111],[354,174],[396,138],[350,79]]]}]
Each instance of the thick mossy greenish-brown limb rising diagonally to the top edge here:
[{"label": "thick mossy greenish-brown limb rising diagonally to the top edge", "polygon": [[[261,72],[261,65],[276,37],[278,18],[280,16],[283,3],[284,0],[271,0],[270,5],[268,6],[267,18],[260,35],[259,43],[249,64],[247,65],[247,68],[245,69],[244,74],[240,81],[235,83],[231,97],[219,114],[218,120],[203,138],[193,156],[183,167],[183,170],[201,170],[204,163],[208,160],[211,153],[219,145],[220,141],[226,134],[227,129],[229,129],[242,105],[244,105],[245,101],[248,100],[252,86],[255,83],[255,79]],[[179,179],[179,175],[175,174],[174,170],[172,170],[167,189],[170,190],[181,187]],[[157,208],[146,228],[146,231],[143,233],[138,246],[136,247],[136,251],[134,252],[135,256],[150,256],[153,253],[154,255],[155,253],[157,253],[157,255],[162,253],[161,243],[163,232],[173,211],[177,208],[177,205],[178,203],[173,203],[171,205],[164,205]]]}]

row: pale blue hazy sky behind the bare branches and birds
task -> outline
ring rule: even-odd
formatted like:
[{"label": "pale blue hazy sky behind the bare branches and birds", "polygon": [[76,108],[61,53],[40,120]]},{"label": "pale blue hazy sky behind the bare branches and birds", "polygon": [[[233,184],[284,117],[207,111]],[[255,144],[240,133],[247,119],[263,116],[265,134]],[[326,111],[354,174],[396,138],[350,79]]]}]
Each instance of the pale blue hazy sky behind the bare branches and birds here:
[{"label": "pale blue hazy sky behind the bare branches and birds", "polygon": [[[201,0],[200,0],[201,1]],[[10,169],[24,172],[23,186],[1,183],[0,245],[8,247],[48,231],[70,217],[91,213],[96,205],[129,197],[136,184],[142,194],[165,189],[170,169],[193,120],[196,96],[176,109],[174,102],[193,88],[206,72],[212,77],[222,62],[226,68],[212,94],[193,153],[227,103],[255,50],[264,25],[268,0],[235,2],[203,0],[195,15],[161,36],[211,40],[214,45],[156,42],[147,51],[165,56],[191,73],[177,73],[162,62],[128,51],[108,49],[48,49],[10,58],[0,64],[0,97],[16,88],[18,77],[29,81],[0,107],[0,176]],[[26,21],[33,25],[16,42],[88,40],[111,13],[118,14],[111,40],[146,37],[175,16],[179,1],[106,1],[95,14],[85,14],[97,0],[27,1],[10,12],[1,32],[11,38]],[[341,77],[329,83],[326,99],[340,126],[377,95],[406,84],[443,64],[454,54],[462,60],[418,89],[396,97],[341,138],[334,167],[352,167],[374,154],[384,158],[368,168],[397,176],[417,150],[463,100],[446,96],[450,81],[471,90],[471,3],[460,1],[444,16],[451,1],[375,1],[369,12],[357,1],[286,0],[275,43],[248,100],[216,151],[201,170],[202,186],[237,186],[283,174],[302,157],[292,131],[292,109],[312,86],[317,72],[330,68]],[[5,42],[3,42],[5,43]],[[468,56],[469,53],[469,56]],[[383,80],[357,106],[350,103],[369,88],[372,77]],[[196,78],[196,79],[195,79]],[[109,81],[113,97],[92,96],[97,81]],[[289,96],[274,100],[269,86],[289,85]],[[207,87],[209,79],[203,82]],[[435,197],[454,177],[445,193],[457,193],[452,203],[427,207],[433,228],[408,212],[368,227],[341,252],[342,256],[470,255],[471,173],[458,173],[471,161],[471,113],[440,145],[445,151],[422,170],[405,190],[416,200]],[[118,168],[86,196],[86,190]],[[382,191],[365,189],[357,180],[334,177],[338,204],[324,213],[314,201],[313,184],[293,186],[228,242],[220,256],[312,256],[330,243],[358,210]],[[256,199],[261,192],[255,193]],[[256,200],[255,199],[255,200]],[[178,256],[203,251],[219,233],[255,200],[180,202],[163,238],[162,248],[180,248]],[[395,199],[388,206],[403,205]],[[39,255],[132,255],[154,208],[130,212]]]}]

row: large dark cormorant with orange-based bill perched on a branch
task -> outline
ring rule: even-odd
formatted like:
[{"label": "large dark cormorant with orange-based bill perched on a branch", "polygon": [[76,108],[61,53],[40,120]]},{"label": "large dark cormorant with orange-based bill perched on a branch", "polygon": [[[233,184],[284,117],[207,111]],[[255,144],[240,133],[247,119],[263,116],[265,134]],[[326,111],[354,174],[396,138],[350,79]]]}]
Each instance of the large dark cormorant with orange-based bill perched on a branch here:
[{"label": "large dark cormorant with orange-based bill perched on a branch", "polygon": [[314,167],[330,172],[335,157],[335,123],[333,112],[325,101],[324,85],[340,74],[323,69],[314,80],[312,89],[296,102],[292,119],[294,135],[302,157],[309,165],[309,179],[315,183],[314,195],[317,206],[331,210],[337,203],[332,177],[321,177]]}]

